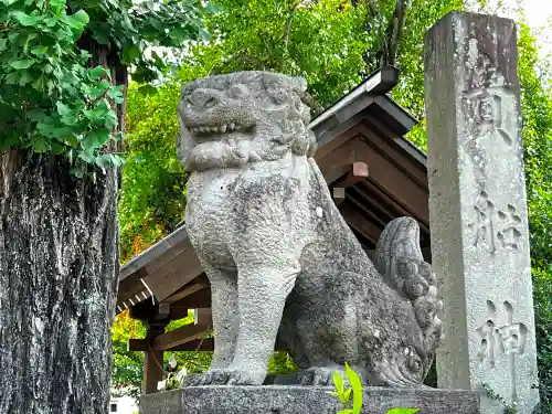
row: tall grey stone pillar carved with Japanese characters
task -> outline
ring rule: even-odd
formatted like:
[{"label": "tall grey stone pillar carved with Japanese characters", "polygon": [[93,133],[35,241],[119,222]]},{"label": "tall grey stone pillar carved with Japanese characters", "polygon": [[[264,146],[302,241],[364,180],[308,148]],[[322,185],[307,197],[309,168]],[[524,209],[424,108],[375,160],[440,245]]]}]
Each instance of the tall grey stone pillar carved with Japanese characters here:
[{"label": "tall grey stone pillar carved with Japanese characters", "polygon": [[485,414],[529,414],[539,393],[516,25],[452,12],[425,47],[439,388],[481,391]]}]

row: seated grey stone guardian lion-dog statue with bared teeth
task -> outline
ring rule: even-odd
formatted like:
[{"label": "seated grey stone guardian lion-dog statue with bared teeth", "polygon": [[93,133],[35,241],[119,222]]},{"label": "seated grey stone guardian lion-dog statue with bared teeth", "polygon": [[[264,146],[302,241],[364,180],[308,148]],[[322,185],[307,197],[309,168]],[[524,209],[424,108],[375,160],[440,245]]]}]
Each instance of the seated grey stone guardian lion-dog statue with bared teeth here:
[{"label": "seated grey stone guardian lion-dog statue with bared teeth", "polygon": [[302,384],[328,384],[348,362],[365,384],[415,386],[432,364],[440,302],[418,225],[394,220],[368,258],[312,158],[305,91],[265,72],[182,88],[185,221],[215,331],[210,370],[184,384],[262,384],[276,339]]}]

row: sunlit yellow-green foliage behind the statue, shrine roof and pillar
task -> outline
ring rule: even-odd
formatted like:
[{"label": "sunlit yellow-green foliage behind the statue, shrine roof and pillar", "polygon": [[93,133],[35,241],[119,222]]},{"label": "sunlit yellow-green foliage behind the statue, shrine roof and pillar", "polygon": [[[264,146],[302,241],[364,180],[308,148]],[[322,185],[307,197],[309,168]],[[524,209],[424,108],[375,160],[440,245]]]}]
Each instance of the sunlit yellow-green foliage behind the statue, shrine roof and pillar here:
[{"label": "sunlit yellow-green foliage behind the statue, shrine roof and pillar", "polygon": [[[375,71],[396,50],[402,70],[392,96],[421,123],[407,136],[426,147],[423,39],[463,0],[413,0],[404,11],[399,42],[390,25],[400,1],[217,0],[222,10],[208,20],[213,40],[177,52],[185,63],[157,92],[136,83],[129,89],[128,162],[120,199],[121,250],[126,258],[173,231],[183,220],[185,174],[176,159],[176,105],[180,86],[199,76],[240,70],[274,70],[309,82],[311,107],[320,110]],[[531,256],[538,321],[541,395],[552,402],[552,94],[543,77],[550,61],[539,60],[534,36],[520,22],[518,33]],[[385,52],[386,51],[386,52]],[[150,93],[145,95],[144,92]],[[273,372],[293,370],[287,355]],[[139,381],[141,374],[136,375]],[[435,381],[435,378],[432,379]]]}]

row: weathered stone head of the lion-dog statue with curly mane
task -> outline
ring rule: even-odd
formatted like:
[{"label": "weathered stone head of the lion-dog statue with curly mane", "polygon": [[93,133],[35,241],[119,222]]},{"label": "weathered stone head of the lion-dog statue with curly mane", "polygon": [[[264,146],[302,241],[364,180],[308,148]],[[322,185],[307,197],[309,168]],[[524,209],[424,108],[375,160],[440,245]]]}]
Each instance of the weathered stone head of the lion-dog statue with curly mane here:
[{"label": "weathered stone head of the lion-dog statue with curly mane", "polygon": [[[277,160],[289,150],[297,156],[311,157],[316,151],[316,138],[308,128],[310,109],[300,98],[306,86],[301,77],[254,71],[210,76],[185,84],[178,107],[179,158],[187,170],[193,171]],[[233,95],[236,87],[243,96]],[[198,91],[216,95],[220,105],[214,108],[215,115],[185,106]],[[209,121],[216,128],[225,125],[225,119],[251,128],[242,134],[225,130],[208,141],[190,131],[191,125]]]}]

